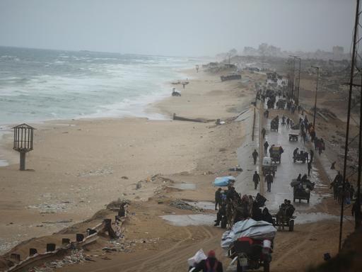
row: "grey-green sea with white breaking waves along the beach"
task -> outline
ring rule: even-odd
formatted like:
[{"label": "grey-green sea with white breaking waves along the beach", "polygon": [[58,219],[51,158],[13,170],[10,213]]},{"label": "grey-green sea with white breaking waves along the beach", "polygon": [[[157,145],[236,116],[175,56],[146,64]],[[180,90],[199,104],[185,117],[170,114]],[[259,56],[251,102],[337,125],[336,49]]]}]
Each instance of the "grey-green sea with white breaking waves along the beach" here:
[{"label": "grey-green sea with white breaking waves along the beach", "polygon": [[170,96],[170,81],[199,61],[185,57],[0,47],[0,125],[137,116]]}]

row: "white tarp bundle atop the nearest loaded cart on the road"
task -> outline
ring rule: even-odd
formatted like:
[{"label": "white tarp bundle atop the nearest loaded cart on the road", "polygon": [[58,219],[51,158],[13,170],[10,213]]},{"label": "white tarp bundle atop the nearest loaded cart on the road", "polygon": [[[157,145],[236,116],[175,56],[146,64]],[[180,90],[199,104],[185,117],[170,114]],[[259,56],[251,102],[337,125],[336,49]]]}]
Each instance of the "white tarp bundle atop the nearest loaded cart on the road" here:
[{"label": "white tarp bundle atop the nearest loaded cart on the road", "polygon": [[240,237],[252,239],[274,239],[276,228],[269,222],[246,219],[236,222],[233,227],[224,232],[221,237],[221,247],[228,249],[231,243]]}]

